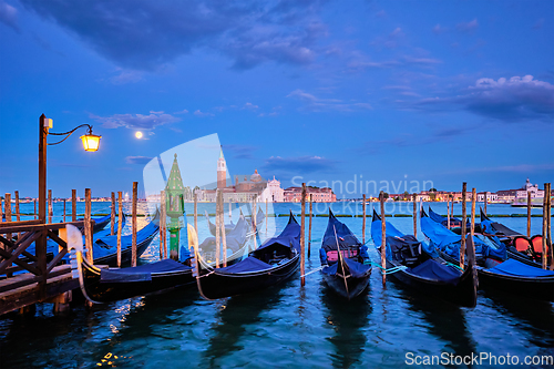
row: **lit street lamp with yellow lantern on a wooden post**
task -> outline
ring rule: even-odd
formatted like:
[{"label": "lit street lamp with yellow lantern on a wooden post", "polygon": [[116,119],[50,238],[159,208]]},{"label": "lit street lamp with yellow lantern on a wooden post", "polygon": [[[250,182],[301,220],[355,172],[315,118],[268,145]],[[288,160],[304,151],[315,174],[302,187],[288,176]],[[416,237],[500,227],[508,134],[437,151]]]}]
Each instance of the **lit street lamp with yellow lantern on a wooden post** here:
[{"label": "lit street lamp with yellow lantern on a wooden post", "polygon": [[[63,133],[49,132],[52,126],[52,120],[42,114],[39,119],[39,219],[42,224],[47,223],[47,146],[61,144],[69,136],[71,136],[73,132],[83,126],[89,127],[88,134],[81,136],[85,151],[98,151],[100,146],[100,139],[102,137],[92,134],[92,126],[90,124],[81,124],[71,131]],[[48,143],[47,137],[49,134],[64,137],[61,141]]]}]

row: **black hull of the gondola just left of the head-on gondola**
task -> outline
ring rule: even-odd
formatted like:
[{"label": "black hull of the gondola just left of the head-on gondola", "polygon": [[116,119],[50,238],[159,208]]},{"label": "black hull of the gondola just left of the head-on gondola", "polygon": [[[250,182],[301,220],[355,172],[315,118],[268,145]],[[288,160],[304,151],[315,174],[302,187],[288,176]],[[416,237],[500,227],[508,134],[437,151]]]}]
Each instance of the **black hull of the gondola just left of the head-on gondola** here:
[{"label": "black hull of the gondola just left of the head-on gondola", "polygon": [[208,299],[224,298],[254,293],[278,285],[290,278],[300,266],[300,257],[296,255],[288,263],[266,270],[250,273],[213,273],[202,276],[201,293]]}]

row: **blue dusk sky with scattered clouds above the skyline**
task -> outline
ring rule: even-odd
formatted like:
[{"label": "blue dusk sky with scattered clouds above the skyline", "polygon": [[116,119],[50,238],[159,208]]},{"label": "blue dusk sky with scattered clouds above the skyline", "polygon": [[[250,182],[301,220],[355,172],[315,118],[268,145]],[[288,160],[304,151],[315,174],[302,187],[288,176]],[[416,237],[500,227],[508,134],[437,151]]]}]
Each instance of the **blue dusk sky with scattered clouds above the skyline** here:
[{"label": "blue dusk sky with scattered clouds above the skyline", "polygon": [[103,136],[49,147],[54,196],[212,133],[284,187],[554,180],[553,1],[0,0],[0,41],[2,194],[37,196],[41,113]]}]

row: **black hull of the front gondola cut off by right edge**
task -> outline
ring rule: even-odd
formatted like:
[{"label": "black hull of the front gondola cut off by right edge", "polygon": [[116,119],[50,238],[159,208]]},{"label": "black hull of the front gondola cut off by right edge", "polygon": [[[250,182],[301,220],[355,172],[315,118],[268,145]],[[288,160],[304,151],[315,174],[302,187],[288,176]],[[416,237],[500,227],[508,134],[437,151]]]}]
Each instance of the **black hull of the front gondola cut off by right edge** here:
[{"label": "black hull of the front gondola cut off by right edge", "polygon": [[[450,263],[459,263],[450,255],[438,250],[439,255]],[[522,297],[530,297],[545,301],[554,301],[554,277],[522,277],[506,276],[476,267],[479,288],[489,291],[504,291]]]}]

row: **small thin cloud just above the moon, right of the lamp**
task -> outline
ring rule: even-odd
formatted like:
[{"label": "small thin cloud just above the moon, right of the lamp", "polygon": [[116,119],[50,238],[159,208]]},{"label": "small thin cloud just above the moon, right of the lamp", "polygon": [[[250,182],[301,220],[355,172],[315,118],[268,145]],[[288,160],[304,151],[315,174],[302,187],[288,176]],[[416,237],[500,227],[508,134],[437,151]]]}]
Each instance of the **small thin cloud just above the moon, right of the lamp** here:
[{"label": "small thin cloud just above the moon, right of the lamp", "polygon": [[111,116],[98,116],[94,114],[89,114],[90,117],[94,119],[96,122],[102,123],[104,129],[117,129],[124,126],[126,129],[138,129],[138,130],[153,130],[158,125],[170,124],[181,121],[181,119],[175,117],[171,114],[165,114],[164,112],[151,111],[150,115],[143,114],[114,114]]}]

